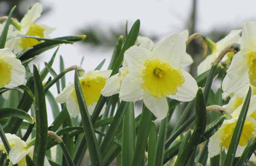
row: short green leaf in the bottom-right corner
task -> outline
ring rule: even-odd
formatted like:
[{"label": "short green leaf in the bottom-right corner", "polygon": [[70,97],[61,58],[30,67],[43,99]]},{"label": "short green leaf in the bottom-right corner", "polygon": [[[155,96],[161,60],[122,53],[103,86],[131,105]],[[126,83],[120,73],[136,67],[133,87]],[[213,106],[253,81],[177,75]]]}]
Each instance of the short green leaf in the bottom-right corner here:
[{"label": "short green leaf in the bottom-right corner", "polygon": [[250,159],[250,157],[253,154],[254,150],[256,149],[256,139],[254,139],[253,141],[250,141],[250,143],[246,146],[243,154],[241,155],[241,157],[239,158],[236,166],[240,166],[243,164],[246,164],[248,162],[248,160]]}]

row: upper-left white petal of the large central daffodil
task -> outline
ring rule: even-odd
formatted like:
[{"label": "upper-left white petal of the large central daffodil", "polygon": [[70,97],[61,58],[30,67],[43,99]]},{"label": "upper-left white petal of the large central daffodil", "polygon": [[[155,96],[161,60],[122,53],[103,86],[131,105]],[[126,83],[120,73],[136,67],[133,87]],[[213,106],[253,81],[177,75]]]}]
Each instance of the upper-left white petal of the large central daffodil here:
[{"label": "upper-left white petal of the large central daffodil", "polygon": [[132,46],[125,51],[124,60],[127,63],[129,72],[139,70],[144,66],[145,59],[152,58],[152,53],[143,47]]}]

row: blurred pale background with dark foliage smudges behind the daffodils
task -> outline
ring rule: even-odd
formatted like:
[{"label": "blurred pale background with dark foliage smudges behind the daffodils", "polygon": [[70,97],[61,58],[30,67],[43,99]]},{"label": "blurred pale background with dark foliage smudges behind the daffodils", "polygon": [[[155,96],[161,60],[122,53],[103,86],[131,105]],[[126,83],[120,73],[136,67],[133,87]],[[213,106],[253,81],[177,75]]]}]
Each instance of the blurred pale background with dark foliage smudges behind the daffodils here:
[{"label": "blurred pale background with dark foliage smudges behind the daffodils", "polygon": [[[61,45],[53,64],[57,73],[60,72],[59,55],[63,56],[65,67],[79,65],[84,57],[81,66],[85,70],[93,70],[106,58],[102,69],[107,69],[118,37],[125,34],[126,21],[129,30],[134,21],[140,19],[140,35],[147,36],[154,42],[185,29],[190,34],[198,32],[217,42],[230,30],[241,29],[243,22],[256,18],[256,1],[240,0],[0,0],[0,16],[8,15],[10,9],[16,5],[13,17],[20,20],[36,2],[42,3],[44,7],[37,24],[56,28],[51,37],[82,34],[87,36],[83,42]],[[49,61],[54,50],[38,56],[35,64],[43,68],[44,62]],[[193,57],[194,63],[185,70],[196,76],[196,66],[203,59],[201,42],[193,40],[187,52]],[[74,73],[68,73],[66,82],[73,82],[73,79]],[[57,95],[55,86],[51,91]],[[141,102],[136,104],[137,114],[141,112],[140,105]],[[47,108],[50,109],[49,104]],[[53,117],[49,114],[48,123],[51,124],[52,121]],[[171,123],[175,121],[174,118]]]}]

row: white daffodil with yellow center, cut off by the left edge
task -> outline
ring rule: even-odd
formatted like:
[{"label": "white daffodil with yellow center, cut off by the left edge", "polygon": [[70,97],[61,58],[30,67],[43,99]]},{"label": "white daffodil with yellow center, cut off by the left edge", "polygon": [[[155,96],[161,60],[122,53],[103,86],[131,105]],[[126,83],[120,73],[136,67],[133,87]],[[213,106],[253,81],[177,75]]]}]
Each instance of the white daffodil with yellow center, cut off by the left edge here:
[{"label": "white daffodil with yellow center, cut off by the left edge", "polygon": [[0,49],[0,88],[17,87],[24,83],[25,67],[9,48]]}]

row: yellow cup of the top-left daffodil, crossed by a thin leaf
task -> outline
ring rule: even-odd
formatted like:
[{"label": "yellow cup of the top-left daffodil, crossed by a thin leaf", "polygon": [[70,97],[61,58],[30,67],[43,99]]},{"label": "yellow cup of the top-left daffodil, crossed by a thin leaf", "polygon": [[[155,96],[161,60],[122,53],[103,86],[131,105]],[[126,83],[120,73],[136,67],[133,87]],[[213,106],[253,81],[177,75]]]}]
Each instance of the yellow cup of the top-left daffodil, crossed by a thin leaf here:
[{"label": "yellow cup of the top-left daffodil, crossed by a thin leaf", "polygon": [[[42,26],[39,26],[33,23],[30,25],[26,35],[44,37],[44,28]],[[21,38],[19,42],[19,46],[23,49],[26,49],[28,47],[33,47],[34,45],[37,45],[39,43],[41,43],[41,41],[38,41],[37,39]]]}]

